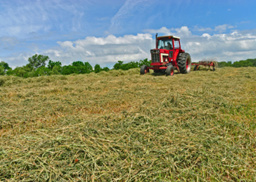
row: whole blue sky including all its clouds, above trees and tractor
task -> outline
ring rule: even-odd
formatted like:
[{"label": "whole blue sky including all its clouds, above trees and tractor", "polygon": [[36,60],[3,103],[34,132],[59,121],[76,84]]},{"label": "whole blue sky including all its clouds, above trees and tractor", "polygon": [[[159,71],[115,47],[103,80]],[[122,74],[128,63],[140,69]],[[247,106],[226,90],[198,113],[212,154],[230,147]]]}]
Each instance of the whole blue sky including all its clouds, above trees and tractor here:
[{"label": "whole blue sky including all its clouds, above trees and tractor", "polygon": [[27,64],[34,54],[62,65],[149,58],[155,33],[181,37],[192,61],[256,58],[253,0],[2,0],[0,61]]}]

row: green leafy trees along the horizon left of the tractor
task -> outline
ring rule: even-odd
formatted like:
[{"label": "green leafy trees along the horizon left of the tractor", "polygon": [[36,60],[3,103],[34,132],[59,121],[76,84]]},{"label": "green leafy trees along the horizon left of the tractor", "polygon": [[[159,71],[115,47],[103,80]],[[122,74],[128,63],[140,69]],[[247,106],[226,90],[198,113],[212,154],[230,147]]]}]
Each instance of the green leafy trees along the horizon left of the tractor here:
[{"label": "green leafy trees along the horizon left of the tractor", "polygon": [[[13,75],[17,77],[39,77],[53,74],[89,74],[91,72],[99,73],[101,71],[110,71],[108,67],[101,67],[95,64],[94,68],[88,62],[74,61],[72,64],[62,66],[60,61],[51,61],[47,55],[33,55],[28,58],[28,63],[22,67],[12,69],[5,61],[0,62],[0,75]],[[46,65],[46,62],[48,64]],[[151,61],[147,58],[140,61],[131,61],[123,63],[117,61],[114,64],[114,70],[129,70],[135,67],[141,67],[143,64],[150,65]]]}]

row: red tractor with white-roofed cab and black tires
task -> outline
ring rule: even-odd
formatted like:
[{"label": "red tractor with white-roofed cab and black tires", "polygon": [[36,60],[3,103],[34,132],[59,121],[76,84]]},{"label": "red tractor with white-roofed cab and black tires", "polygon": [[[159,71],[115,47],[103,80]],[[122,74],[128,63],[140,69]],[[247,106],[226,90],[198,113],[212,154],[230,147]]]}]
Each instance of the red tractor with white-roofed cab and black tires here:
[{"label": "red tractor with white-roofed cab and black tires", "polygon": [[191,68],[190,55],[181,49],[180,38],[177,36],[155,35],[155,49],[150,50],[151,66],[143,65],[140,74],[149,73],[149,69],[155,73],[165,73],[173,76],[174,70],[181,74],[188,74]]}]

